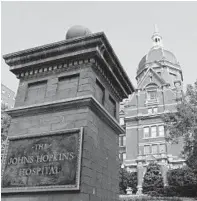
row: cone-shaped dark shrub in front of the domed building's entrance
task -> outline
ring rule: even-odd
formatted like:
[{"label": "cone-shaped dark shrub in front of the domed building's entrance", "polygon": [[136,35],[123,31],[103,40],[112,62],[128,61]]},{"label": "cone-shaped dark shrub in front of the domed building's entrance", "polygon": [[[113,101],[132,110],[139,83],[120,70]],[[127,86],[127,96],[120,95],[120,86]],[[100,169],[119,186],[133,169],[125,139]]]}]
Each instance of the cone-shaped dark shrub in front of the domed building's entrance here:
[{"label": "cone-shaped dark shrub in front of the domed building's entrance", "polygon": [[150,163],[144,175],[142,189],[144,194],[158,196],[163,193],[164,182],[160,171],[160,166],[157,163]]}]

